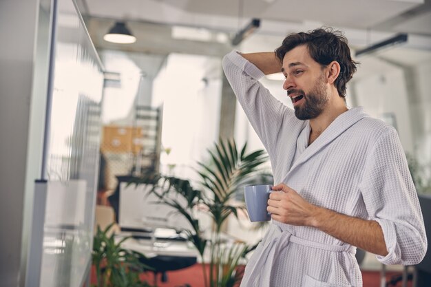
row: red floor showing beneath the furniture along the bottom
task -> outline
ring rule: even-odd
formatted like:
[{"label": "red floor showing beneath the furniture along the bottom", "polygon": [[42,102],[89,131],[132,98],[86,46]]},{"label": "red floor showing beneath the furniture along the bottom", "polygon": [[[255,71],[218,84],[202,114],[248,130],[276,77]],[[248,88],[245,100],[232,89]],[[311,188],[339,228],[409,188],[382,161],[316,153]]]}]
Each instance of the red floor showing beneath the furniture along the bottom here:
[{"label": "red floor showing beneath the furniture along the bottom", "polygon": [[[390,280],[393,276],[399,275],[400,273],[388,273],[387,279]],[[189,268],[182,270],[171,271],[167,273],[168,281],[166,283],[160,282],[160,275],[158,276],[157,286],[158,287],[185,287],[185,284],[189,284],[191,287],[204,287],[202,266],[195,264]],[[154,284],[154,276],[152,273],[145,273],[141,275],[142,279],[147,280],[150,284]],[[364,281],[364,287],[380,287],[380,273],[378,271],[363,271],[362,278]],[[95,283],[95,273],[92,272],[92,283]],[[408,286],[412,286],[409,282]],[[401,287],[401,281],[397,285],[391,287]]]}]

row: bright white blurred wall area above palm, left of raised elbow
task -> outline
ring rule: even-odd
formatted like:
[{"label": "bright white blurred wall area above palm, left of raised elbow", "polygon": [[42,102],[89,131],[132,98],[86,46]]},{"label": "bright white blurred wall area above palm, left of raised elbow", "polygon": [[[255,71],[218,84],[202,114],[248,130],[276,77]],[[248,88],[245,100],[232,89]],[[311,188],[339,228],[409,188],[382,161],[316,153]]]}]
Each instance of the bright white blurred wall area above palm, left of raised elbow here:
[{"label": "bright white blurred wall area above palm, left of raised elbow", "polygon": [[154,80],[152,105],[163,105],[162,172],[176,164],[175,176],[194,178],[197,161],[218,140],[221,104],[221,60],[170,54]]}]

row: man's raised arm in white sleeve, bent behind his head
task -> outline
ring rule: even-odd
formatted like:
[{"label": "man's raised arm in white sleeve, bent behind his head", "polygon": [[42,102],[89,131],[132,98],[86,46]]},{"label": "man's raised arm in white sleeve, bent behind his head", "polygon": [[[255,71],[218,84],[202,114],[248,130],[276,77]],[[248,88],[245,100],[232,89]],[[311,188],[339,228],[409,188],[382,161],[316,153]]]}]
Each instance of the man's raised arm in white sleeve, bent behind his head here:
[{"label": "man's raised arm in white sleeve, bent behind his head", "polygon": [[[260,82],[265,73],[281,72],[281,64],[274,52],[241,54],[232,51],[223,58],[223,70],[238,103],[271,156],[277,150],[280,133],[297,134],[301,128],[293,109],[275,98]],[[295,140],[295,136],[286,138]],[[276,156],[271,158],[273,166],[277,166],[277,159]]]}]

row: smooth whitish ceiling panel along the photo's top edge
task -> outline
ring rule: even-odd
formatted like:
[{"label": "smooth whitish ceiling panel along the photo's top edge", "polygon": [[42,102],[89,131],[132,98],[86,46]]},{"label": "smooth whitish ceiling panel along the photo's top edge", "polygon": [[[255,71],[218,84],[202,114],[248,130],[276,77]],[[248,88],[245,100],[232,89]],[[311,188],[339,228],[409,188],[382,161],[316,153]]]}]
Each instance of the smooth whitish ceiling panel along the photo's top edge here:
[{"label": "smooth whitish ceiling panel along the photo's top edge", "polygon": [[[231,25],[240,20],[302,23],[348,28],[371,28],[377,23],[421,5],[420,0],[84,0],[90,16],[110,19]],[[242,9],[240,9],[242,3]]]}]

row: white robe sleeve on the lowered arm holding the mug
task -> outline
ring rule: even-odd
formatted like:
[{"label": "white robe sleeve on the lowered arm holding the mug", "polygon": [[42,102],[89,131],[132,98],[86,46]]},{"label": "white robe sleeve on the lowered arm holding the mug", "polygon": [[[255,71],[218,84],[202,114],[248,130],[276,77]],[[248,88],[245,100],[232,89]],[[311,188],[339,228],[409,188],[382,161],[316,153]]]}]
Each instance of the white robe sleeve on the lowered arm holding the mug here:
[{"label": "white robe sleeve on the lowered arm holding the mug", "polygon": [[427,239],[417,191],[397,131],[388,127],[368,155],[359,184],[368,217],[382,230],[388,255],[376,255],[383,264],[421,262]]}]

